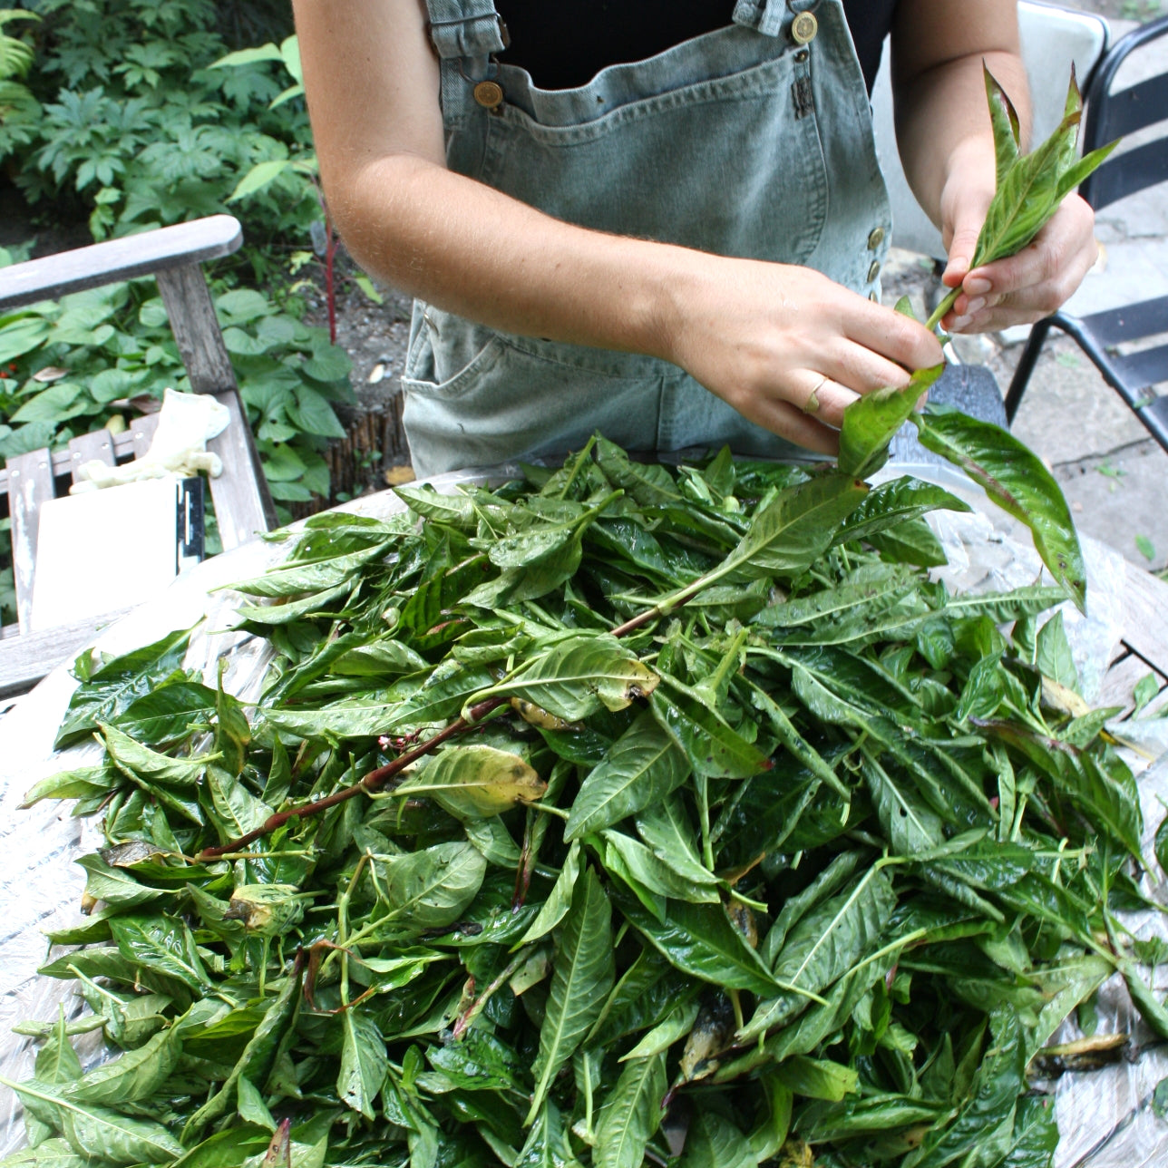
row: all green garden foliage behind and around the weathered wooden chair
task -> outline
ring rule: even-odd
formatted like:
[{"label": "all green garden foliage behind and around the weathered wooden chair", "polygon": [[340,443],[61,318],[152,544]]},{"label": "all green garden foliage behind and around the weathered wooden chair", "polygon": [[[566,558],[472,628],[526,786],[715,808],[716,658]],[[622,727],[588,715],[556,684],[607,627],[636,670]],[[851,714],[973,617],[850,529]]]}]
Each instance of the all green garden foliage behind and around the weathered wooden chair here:
[{"label": "all green garden foliage behind and around the weathered wooden chair", "polygon": [[[346,355],[298,319],[298,270],[324,256],[329,296],[336,276],[290,32],[285,0],[0,9],[0,167],[37,214],[88,221],[97,239],[223,210],[243,221],[213,291],[283,519],[281,503],[329,498],[321,451],[343,433],[333,403],[353,399]],[[0,249],[0,266],[26,255]],[[123,403],[167,385],[187,380],[153,281],[0,314],[0,465],[117,426]],[[5,623],[9,556],[0,526]]]}]

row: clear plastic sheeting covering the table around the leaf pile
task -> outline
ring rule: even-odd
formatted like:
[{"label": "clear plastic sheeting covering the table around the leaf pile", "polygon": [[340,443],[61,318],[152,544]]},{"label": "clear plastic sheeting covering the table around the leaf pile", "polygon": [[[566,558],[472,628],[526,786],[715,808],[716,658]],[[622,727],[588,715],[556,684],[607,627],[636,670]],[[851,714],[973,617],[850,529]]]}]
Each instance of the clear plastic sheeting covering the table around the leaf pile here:
[{"label": "clear plastic sheeting covering the table around the leaf pile", "polygon": [[[466,482],[501,481],[514,477],[514,467],[460,472],[430,480],[442,491]],[[1001,591],[1033,584],[1042,575],[1029,533],[993,508],[967,479],[936,464],[898,464],[885,468],[880,480],[912,474],[965,499],[971,514],[934,513],[930,522],[950,558],[938,572],[951,591]],[[384,517],[399,512],[402,503],[383,492],[346,505],[345,510]],[[266,644],[232,632],[236,595],[215,589],[232,580],[259,575],[286,552],[284,542],[256,541],[200,564],[162,597],[137,610],[104,632],[97,647],[120,654],[159,640],[175,628],[195,628],[187,654],[188,668],[203,670],[208,684],[216,684],[220,662],[225,662],[224,688],[255,701],[270,660]],[[1094,541],[1084,541],[1087,566],[1089,616],[1070,604],[1063,606],[1068,635],[1083,680],[1084,697],[1098,697],[1107,666],[1122,635],[1126,569],[1122,558]],[[1048,579],[1049,582],[1049,579]],[[197,627],[195,627],[197,626]],[[63,1004],[69,1018],[81,1016],[84,1003],[70,982],[36,973],[50,955],[44,930],[64,929],[81,922],[84,872],[72,861],[95,850],[102,842],[96,820],[76,820],[68,804],[43,802],[28,811],[19,805],[39,780],[63,770],[96,763],[97,744],[83,744],[55,752],[53,739],[76,688],[69,668],[51,673],[32,694],[15,700],[5,711],[0,703],[0,1076],[11,1080],[29,1078],[36,1044],[13,1034],[27,1020],[51,1022]],[[1162,726],[1161,724],[1162,723]],[[1125,723],[1131,730],[1135,723]],[[1161,729],[1163,732],[1161,732]],[[1168,719],[1148,723],[1142,732],[1145,753],[1168,751]],[[1129,757],[1133,769],[1146,765],[1143,757]],[[1139,778],[1145,814],[1145,855],[1153,856],[1152,837],[1168,804],[1168,757]],[[1163,800],[1163,802],[1161,801]],[[1154,899],[1168,898],[1168,881],[1153,867],[1143,877],[1142,890]],[[1168,918],[1146,912],[1125,918],[1141,938],[1168,940]],[[1168,971],[1161,971],[1154,989],[1163,999]],[[1117,978],[1098,996],[1100,1034],[1127,1034],[1117,1062],[1099,1070],[1066,1072],[1044,1084],[1058,1103],[1062,1141],[1057,1168],[1152,1168],[1168,1164],[1168,1122],[1152,1111],[1152,1092],[1168,1077],[1168,1043],[1163,1043],[1134,1016],[1127,992]],[[1051,1042],[1082,1037],[1073,1020]],[[83,1063],[104,1055],[99,1030],[75,1038]],[[20,1103],[0,1087],[0,1156],[23,1142]]]}]

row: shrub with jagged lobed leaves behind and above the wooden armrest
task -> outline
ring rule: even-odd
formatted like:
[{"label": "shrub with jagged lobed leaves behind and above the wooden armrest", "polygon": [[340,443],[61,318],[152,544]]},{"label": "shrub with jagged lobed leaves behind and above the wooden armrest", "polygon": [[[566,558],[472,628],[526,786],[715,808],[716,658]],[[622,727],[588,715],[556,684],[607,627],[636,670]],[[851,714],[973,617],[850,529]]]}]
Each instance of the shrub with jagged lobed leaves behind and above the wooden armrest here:
[{"label": "shrub with jagged lobed leaves behind and above the wooden armrest", "polygon": [[[285,63],[229,51],[209,0],[30,0],[43,18],[32,123],[0,127],[29,203],[84,210],[96,238],[222,210],[255,167],[272,178],[237,213],[249,245],[303,239],[320,217],[303,99],[272,104]],[[291,238],[290,238],[291,237]]]}]

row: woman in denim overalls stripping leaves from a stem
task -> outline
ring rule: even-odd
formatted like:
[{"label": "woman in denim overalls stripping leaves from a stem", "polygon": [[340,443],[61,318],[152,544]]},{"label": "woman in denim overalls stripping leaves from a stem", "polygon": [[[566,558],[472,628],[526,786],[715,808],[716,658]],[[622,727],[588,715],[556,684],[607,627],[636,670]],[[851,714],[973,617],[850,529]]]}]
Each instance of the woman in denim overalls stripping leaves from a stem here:
[{"label": "woman in denim overalls stripping leaves from a stem", "polygon": [[1024,253],[968,270],[994,192],[982,62],[1026,117],[1014,0],[294,8],[333,217],[419,298],[419,474],[597,429],[632,450],[830,453],[856,395],[939,362],[875,303],[889,207],[855,46],[870,76],[885,32],[905,172],[962,287],[948,327],[1036,320],[1094,260],[1072,197]]}]

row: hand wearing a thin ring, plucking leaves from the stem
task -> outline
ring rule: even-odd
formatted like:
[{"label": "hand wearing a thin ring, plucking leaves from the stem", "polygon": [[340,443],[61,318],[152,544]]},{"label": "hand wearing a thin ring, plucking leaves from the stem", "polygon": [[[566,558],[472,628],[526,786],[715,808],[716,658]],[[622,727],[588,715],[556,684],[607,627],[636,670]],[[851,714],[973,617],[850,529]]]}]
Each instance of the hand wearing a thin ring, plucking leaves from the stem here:
[{"label": "hand wearing a thin ring, plucking leaves from the stem", "polygon": [[851,402],[943,360],[922,325],[811,269],[703,255],[694,276],[672,297],[661,355],[807,450],[836,453]]}]

